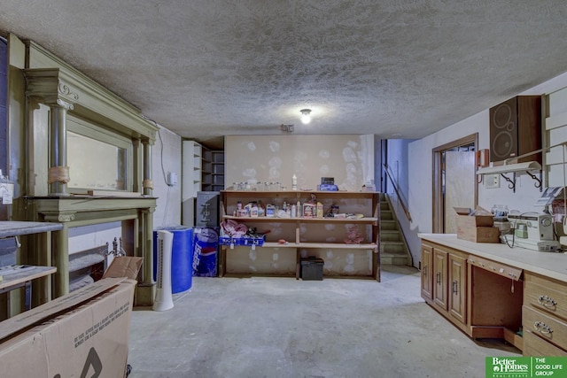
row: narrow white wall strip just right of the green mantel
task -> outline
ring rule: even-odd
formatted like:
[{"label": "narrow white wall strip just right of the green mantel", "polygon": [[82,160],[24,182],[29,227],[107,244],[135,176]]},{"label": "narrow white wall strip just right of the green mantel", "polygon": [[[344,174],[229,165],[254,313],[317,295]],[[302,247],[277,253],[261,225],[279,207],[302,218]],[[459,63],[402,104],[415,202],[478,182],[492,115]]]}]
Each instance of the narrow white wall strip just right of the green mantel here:
[{"label": "narrow white wall strip just right of the green mantel", "polygon": [[[153,196],[158,197],[156,211],[153,213],[154,229],[181,224],[181,142],[181,136],[159,127],[151,151]],[[167,186],[166,177],[169,172],[177,174],[177,184],[173,187]]]}]

